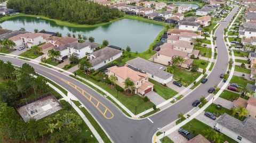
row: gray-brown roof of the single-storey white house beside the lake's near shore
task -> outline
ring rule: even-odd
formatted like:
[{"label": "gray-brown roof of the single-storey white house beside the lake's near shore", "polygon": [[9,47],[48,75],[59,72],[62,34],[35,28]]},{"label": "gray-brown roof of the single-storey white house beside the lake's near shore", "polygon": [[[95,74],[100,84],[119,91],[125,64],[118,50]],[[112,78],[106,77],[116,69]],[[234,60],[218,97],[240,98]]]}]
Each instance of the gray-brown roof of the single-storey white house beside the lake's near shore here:
[{"label": "gray-brown roof of the single-storey white house beside the lake's near shore", "polygon": [[89,62],[94,66],[122,52],[123,51],[118,49],[104,47],[102,49],[99,49],[98,51],[91,53],[91,55],[94,55],[95,58],[93,58]]}]

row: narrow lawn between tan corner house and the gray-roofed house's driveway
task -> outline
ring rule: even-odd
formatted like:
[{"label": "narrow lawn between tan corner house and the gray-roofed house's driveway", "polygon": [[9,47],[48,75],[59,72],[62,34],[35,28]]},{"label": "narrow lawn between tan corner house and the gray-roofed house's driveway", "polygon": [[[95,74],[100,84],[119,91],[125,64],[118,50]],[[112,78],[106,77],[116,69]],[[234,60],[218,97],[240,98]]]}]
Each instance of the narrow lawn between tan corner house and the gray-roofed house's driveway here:
[{"label": "narrow lawn between tan corner house and the gray-roofed house's driveway", "polygon": [[159,94],[160,96],[162,96],[166,100],[170,99],[174,95],[178,94],[177,91],[175,91],[175,90],[173,90],[169,87],[162,86],[161,83],[156,82],[155,80],[149,79],[149,82],[154,84],[154,89],[157,92],[157,94]]}]

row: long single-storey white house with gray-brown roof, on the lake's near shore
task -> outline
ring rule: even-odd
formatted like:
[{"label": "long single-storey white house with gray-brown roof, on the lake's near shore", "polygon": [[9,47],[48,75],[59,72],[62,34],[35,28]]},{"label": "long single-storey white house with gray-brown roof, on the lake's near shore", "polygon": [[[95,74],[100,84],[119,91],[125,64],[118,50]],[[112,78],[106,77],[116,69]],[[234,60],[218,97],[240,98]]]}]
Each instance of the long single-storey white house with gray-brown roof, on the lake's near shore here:
[{"label": "long single-storey white house with gray-brown roof, on the lake's near shore", "polygon": [[90,69],[97,70],[102,66],[116,60],[118,57],[121,57],[122,54],[123,51],[115,48],[101,48],[87,56],[87,58],[90,60],[90,63],[92,64],[92,68]]}]

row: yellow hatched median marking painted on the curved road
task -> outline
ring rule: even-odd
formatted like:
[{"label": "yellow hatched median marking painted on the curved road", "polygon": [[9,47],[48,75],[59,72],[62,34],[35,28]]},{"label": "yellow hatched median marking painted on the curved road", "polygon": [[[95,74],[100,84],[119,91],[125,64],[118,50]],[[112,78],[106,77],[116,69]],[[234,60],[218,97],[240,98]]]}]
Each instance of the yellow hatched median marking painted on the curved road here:
[{"label": "yellow hatched median marking painted on the curved road", "polygon": [[[41,70],[41,69],[38,69],[38,70]],[[41,71],[43,71],[43,70],[41,70]],[[46,72],[46,71],[44,71],[44,72]],[[110,111],[108,107],[106,107],[106,106],[105,106],[103,103],[101,103],[97,98],[93,97],[91,94],[89,94],[88,92],[86,92],[86,91],[83,90],[82,88],[80,88],[80,87],[76,86],[74,83],[71,83],[71,82],[69,82],[69,81],[67,81],[67,80],[65,80],[65,79],[62,79],[62,78],[58,77],[57,75],[54,75],[54,74],[52,74],[52,73],[50,73],[50,72],[46,72],[46,73],[49,73],[49,74],[53,75],[53,77],[58,78],[58,79],[64,81],[65,83],[67,83],[69,86],[75,88],[75,89],[76,89],[78,92],[80,92],[87,100],[89,100],[89,102],[91,102],[91,103],[94,105],[94,107],[97,108],[97,110],[98,110],[106,119],[112,119],[112,118],[114,117],[113,112]],[[90,98],[87,97],[87,96],[85,95],[85,93],[86,93],[87,95],[89,95]],[[97,102],[97,105],[95,105],[95,104],[92,102],[92,99],[94,99],[94,100]],[[103,113],[103,112],[100,110],[100,108],[98,107],[99,104],[101,104],[103,107],[106,108],[106,110],[105,110],[104,113]],[[110,113],[110,115],[111,115],[110,117],[107,117],[107,116],[106,116],[106,113],[107,113],[107,112]]]}]

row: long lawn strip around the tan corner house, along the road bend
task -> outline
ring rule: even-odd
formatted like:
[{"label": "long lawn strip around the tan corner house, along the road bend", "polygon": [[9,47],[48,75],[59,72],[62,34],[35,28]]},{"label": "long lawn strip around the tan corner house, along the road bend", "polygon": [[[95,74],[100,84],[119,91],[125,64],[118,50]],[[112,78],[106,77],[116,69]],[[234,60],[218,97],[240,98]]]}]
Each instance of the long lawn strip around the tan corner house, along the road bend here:
[{"label": "long lawn strip around the tan corner house, along the road bend", "polygon": [[[80,77],[87,79],[87,76],[84,73],[82,73],[81,71],[78,70],[78,71],[76,71],[76,73]],[[154,106],[154,104],[149,101],[144,102],[143,98],[141,98],[139,95],[127,96],[127,95],[122,94],[121,92],[118,92],[118,94],[117,94],[117,91],[110,88],[109,85],[107,85],[107,83],[104,83],[102,81],[100,81],[100,82],[95,81],[90,77],[88,80],[90,80],[91,82],[95,83],[102,89],[109,92],[109,94],[113,95],[116,99],[119,100],[119,102],[121,102],[125,107],[127,107],[134,114],[135,114],[135,106],[137,107],[136,114],[139,114],[139,113],[141,113],[145,110],[148,110],[149,108],[152,108]]]}]

